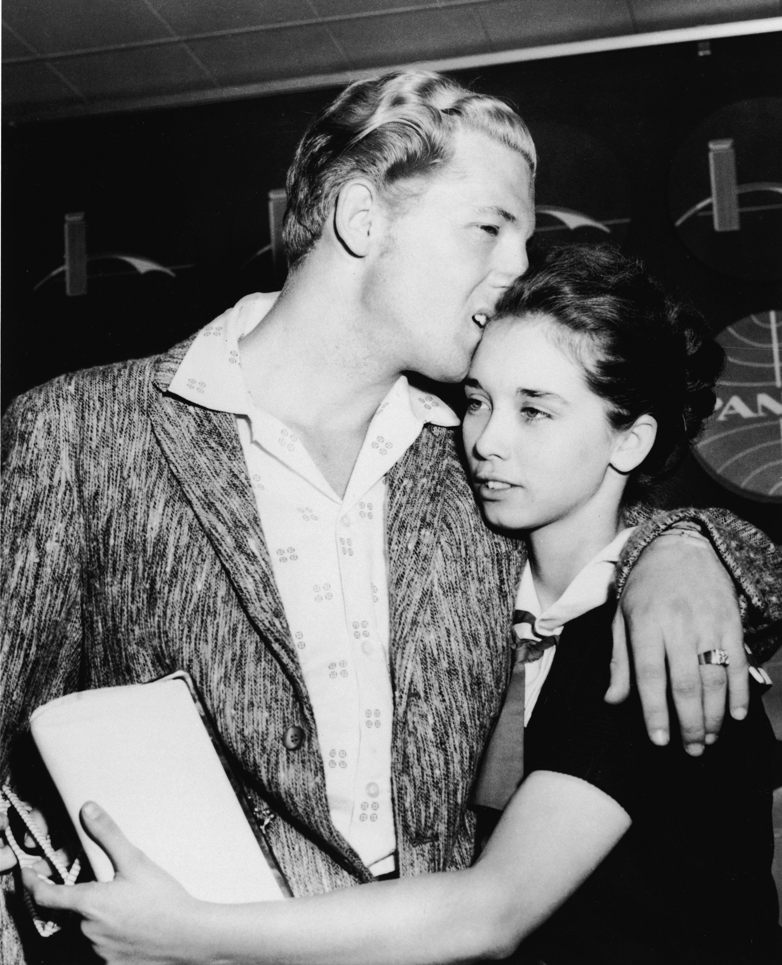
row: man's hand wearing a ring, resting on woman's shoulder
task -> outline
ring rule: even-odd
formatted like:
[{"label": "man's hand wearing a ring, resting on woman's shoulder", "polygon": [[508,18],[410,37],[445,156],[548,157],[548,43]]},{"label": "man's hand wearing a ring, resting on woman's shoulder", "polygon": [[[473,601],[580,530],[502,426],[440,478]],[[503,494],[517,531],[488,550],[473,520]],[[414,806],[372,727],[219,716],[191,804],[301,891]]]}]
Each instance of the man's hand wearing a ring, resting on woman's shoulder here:
[{"label": "man's hand wearing a ring, resting on woman's shoulder", "polygon": [[[667,744],[670,737],[669,675],[688,754],[702,754],[704,745],[716,740],[726,691],[732,716],[746,716],[749,684],[739,602],[733,581],[707,539],[669,531],[656,538],[633,566],[614,620],[608,703],[620,703],[629,693],[628,639],[654,743]],[[727,652],[727,671],[699,664],[698,654],[712,649]]]}]

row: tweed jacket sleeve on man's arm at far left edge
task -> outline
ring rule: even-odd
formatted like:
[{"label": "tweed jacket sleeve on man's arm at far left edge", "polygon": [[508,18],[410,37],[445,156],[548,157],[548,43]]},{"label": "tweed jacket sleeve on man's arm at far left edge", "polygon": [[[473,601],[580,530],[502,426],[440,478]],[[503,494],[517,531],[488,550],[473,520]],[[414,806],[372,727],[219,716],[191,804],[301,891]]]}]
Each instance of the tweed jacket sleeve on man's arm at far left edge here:
[{"label": "tweed jacket sleeve on man's arm at far left edge", "polygon": [[76,427],[72,377],[20,396],[3,417],[2,776],[30,713],[78,684],[84,530]]}]

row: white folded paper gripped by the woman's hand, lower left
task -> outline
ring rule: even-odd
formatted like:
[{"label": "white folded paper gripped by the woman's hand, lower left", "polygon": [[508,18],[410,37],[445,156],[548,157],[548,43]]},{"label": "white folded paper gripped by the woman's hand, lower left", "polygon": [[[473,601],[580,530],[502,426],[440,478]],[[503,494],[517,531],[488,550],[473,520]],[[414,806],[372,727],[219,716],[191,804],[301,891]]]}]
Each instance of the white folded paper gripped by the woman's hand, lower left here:
[{"label": "white folded paper gripped by the woman's hand, lower left", "polygon": [[69,694],[30,718],[98,881],[114,869],[79,821],[97,801],[194,897],[284,897],[180,678]]}]

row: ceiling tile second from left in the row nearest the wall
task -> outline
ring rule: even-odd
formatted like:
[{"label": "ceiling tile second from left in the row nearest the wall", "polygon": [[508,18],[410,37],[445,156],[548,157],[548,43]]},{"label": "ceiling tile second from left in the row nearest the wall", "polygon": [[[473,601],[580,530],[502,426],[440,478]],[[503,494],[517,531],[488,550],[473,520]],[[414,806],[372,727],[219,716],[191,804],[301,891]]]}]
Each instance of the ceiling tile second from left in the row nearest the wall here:
[{"label": "ceiling tile second from left in the row nearest the wall", "polygon": [[88,100],[155,96],[207,86],[182,44],[114,50],[58,63]]}]

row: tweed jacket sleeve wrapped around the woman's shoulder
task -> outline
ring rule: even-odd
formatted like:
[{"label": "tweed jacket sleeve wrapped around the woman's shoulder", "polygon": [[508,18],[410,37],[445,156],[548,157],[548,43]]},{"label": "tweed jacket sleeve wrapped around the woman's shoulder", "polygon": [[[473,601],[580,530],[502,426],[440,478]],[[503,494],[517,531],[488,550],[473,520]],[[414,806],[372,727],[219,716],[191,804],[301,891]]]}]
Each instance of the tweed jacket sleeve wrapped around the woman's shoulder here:
[{"label": "tweed jacket sleeve wrapped around the woman's shoulder", "polygon": [[782,554],[765,534],[728,510],[636,508],[628,523],[637,525],[617,567],[621,592],[641,551],[675,523],[697,523],[728,570],[739,593],[744,642],[762,663],[782,643]]}]

